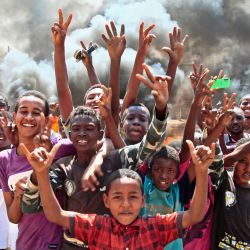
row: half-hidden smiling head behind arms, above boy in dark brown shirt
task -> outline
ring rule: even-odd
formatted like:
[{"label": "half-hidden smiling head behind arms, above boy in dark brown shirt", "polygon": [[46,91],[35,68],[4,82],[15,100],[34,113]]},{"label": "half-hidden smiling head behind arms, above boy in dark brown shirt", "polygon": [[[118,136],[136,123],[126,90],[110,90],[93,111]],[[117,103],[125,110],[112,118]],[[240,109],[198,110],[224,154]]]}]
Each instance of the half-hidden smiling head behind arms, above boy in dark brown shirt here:
[{"label": "half-hidden smiling head behind arms, above boy in dark brown shirt", "polygon": [[84,106],[91,107],[95,110],[99,110],[98,105],[96,103],[97,100],[103,95],[102,84],[92,85],[86,92],[83,104]]}]

